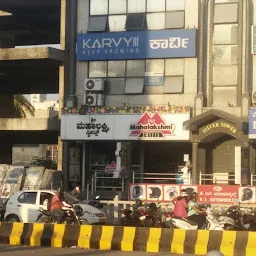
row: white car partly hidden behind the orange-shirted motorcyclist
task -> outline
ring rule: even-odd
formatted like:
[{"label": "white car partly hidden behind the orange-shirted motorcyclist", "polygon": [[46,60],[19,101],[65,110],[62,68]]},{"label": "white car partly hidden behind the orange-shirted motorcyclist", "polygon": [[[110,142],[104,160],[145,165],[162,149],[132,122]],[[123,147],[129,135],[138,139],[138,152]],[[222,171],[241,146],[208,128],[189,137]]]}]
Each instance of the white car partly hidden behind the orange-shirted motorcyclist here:
[{"label": "white car partly hidden behind the orange-shirted motorcyclist", "polygon": [[[56,193],[54,190],[27,190],[14,193],[6,204],[4,219],[7,222],[35,222],[39,208],[47,209],[45,200],[50,200]],[[105,214],[96,207],[85,204],[68,193],[64,193],[65,201],[72,205],[80,205],[84,211],[82,218],[89,224],[105,224]]]}]

